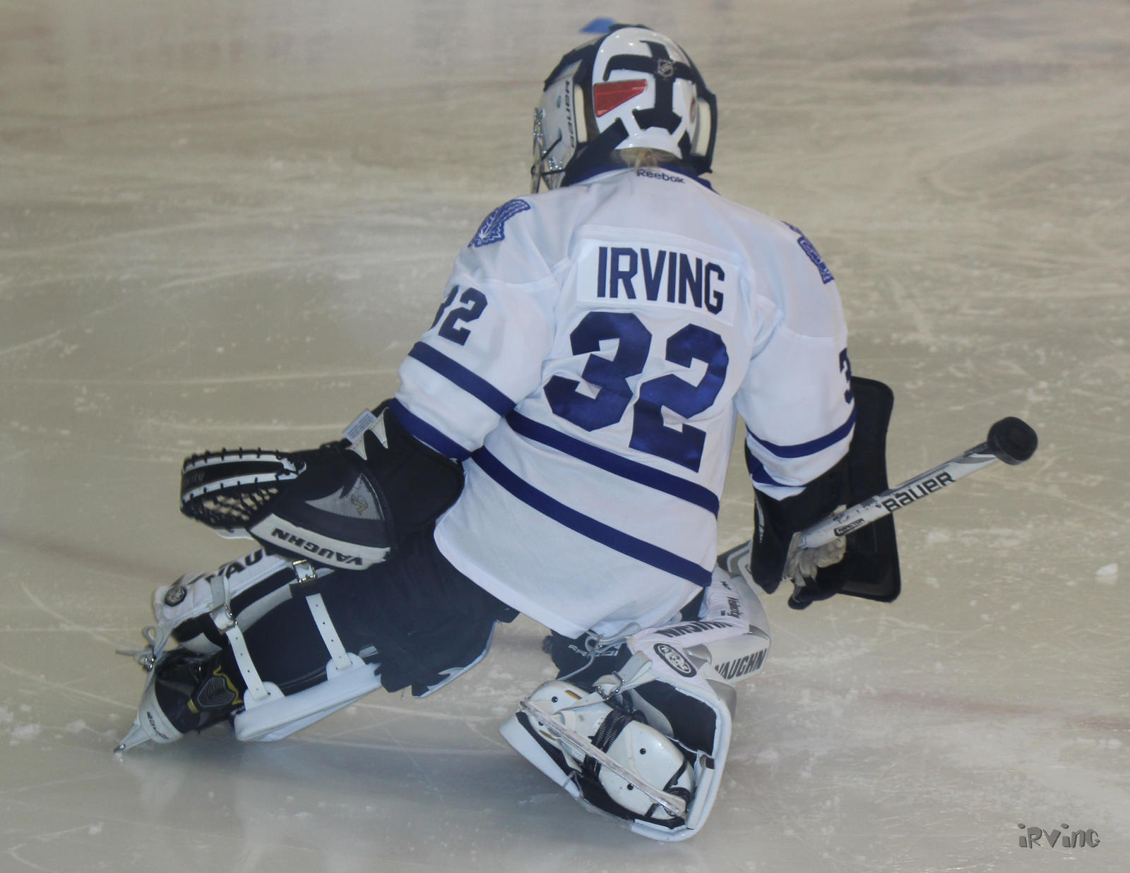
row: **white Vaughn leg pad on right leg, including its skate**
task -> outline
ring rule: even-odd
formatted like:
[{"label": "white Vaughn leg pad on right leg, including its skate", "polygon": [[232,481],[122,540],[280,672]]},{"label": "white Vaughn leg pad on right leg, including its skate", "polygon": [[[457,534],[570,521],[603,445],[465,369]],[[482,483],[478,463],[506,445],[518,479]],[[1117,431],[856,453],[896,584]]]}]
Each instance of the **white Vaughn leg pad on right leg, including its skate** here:
[{"label": "white Vaughn leg pad on right leg, including its skate", "polygon": [[[605,646],[611,657],[597,654]],[[718,796],[733,683],[760,670],[768,646],[757,595],[740,576],[715,568],[695,616],[584,645],[597,655],[589,667],[542,684],[499,730],[586,809],[644,837],[686,839]],[[560,658],[575,663],[568,646],[557,655],[558,666]],[[568,681],[599,665],[608,674]]]}]

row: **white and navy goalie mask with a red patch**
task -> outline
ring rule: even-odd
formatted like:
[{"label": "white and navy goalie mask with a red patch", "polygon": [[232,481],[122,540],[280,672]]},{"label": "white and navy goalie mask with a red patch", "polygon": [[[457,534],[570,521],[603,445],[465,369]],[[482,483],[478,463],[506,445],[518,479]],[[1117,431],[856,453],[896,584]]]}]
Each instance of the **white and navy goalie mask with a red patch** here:
[{"label": "white and navy goalie mask with a red patch", "polygon": [[714,95],[675,42],[617,25],[562,58],[533,111],[531,190],[585,178],[617,149],[667,151],[695,174],[710,171]]}]

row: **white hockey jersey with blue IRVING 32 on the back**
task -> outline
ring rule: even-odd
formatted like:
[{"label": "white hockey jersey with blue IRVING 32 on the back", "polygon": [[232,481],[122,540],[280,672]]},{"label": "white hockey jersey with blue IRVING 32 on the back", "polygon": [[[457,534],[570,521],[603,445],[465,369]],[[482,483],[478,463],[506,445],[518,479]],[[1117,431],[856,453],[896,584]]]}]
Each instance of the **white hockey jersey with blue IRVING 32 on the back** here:
[{"label": "white hockey jersey with blue IRVING 32 on the back", "polygon": [[436,543],[567,636],[661,622],[710,584],[746,422],[756,487],[846,452],[846,329],[796,228],[673,168],[511,200],[455,259],[394,411],[464,462]]}]

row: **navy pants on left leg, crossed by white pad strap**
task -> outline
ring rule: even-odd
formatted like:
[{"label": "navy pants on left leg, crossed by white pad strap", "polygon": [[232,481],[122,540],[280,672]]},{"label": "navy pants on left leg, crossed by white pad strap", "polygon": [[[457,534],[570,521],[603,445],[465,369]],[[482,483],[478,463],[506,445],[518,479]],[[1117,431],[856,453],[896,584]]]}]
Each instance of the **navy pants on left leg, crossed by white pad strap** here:
[{"label": "navy pants on left leg, crossed by white pad strap", "polygon": [[[451,566],[431,529],[383,564],[334,570],[299,588],[244,631],[260,678],[287,695],[325,679],[329,655],[306,595],[322,595],[342,645],[380,665],[383,688],[410,686],[416,697],[473,664],[489,647],[495,625],[518,617]],[[227,646],[223,663],[227,675],[240,675]]]}]

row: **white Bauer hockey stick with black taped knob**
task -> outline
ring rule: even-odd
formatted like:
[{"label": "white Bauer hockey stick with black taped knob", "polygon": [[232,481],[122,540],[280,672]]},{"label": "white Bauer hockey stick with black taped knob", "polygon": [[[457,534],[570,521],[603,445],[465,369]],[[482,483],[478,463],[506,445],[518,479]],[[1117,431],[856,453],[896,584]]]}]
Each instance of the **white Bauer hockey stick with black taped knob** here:
[{"label": "white Bauer hockey stick with black taped knob", "polygon": [[[993,461],[1022,464],[1035,453],[1037,442],[1036,431],[1027,424],[1011,416],[1002,418],[989,428],[989,436],[984,443],[966,449],[944,464],[907,479],[902,484],[896,484],[873,497],[868,497],[866,500],[849,506],[846,509],[829,515],[824,521],[800,531],[794,535],[790,551],[793,548],[815,549],[832,542],[837,536],[858,531],[904,506],[910,506],[923,497],[937,494],[958,479],[988,466]],[[736,574],[742,558],[748,559],[751,548],[753,542],[750,541],[722,552],[718,557],[719,566],[731,575]],[[746,564],[748,565],[748,560]]]}]

